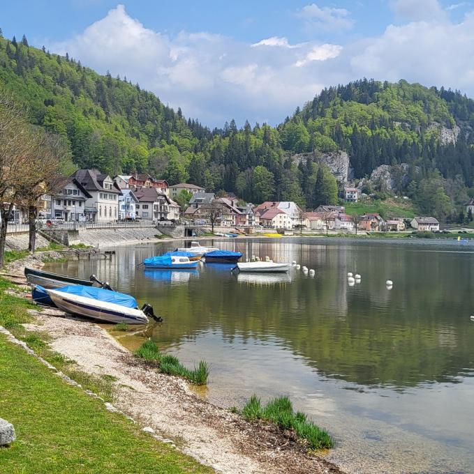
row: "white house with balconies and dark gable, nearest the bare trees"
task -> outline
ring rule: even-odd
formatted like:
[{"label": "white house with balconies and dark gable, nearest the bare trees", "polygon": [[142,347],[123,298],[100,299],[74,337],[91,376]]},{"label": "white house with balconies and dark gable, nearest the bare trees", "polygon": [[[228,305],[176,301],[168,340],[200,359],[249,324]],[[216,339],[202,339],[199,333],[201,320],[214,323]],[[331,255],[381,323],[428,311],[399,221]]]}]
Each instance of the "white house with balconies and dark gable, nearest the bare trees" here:
[{"label": "white house with balconies and dark gable, nearest the bare trees", "polygon": [[61,217],[65,221],[86,220],[86,202],[92,195],[75,178],[68,178],[64,188],[51,199],[52,219]]}]

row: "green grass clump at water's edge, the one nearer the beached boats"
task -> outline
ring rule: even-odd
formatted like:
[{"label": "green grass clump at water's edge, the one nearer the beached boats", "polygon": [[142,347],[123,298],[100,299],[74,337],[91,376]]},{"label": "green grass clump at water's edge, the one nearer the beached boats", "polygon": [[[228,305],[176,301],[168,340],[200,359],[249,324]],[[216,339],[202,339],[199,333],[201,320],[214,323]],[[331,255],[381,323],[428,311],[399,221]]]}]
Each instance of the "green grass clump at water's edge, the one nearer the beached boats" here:
[{"label": "green grass clump at water's edge, the one nearer the beached boats", "polygon": [[188,379],[195,385],[205,385],[209,377],[209,365],[201,360],[193,369],[184,367],[175,355],[162,354],[158,346],[151,340],[145,341],[136,351],[135,355],[142,359],[158,362],[160,372]]}]

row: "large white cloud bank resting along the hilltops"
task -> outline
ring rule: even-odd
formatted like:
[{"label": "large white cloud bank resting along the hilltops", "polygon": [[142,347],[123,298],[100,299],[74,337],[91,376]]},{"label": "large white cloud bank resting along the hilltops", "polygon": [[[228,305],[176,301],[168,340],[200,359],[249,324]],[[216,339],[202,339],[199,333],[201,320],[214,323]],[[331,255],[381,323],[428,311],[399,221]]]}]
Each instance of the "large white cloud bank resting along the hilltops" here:
[{"label": "large white cloud bank resting along the hilltops", "polygon": [[[291,44],[284,36],[251,44],[209,32],[169,37],[117,6],[80,35],[49,46],[99,72],[126,75],[212,127],[232,117],[276,124],[324,86],[360,77],[403,78],[474,95],[474,14],[454,23],[436,12],[423,20],[412,11],[412,22],[341,46]],[[348,13],[342,17],[350,20]]]}]

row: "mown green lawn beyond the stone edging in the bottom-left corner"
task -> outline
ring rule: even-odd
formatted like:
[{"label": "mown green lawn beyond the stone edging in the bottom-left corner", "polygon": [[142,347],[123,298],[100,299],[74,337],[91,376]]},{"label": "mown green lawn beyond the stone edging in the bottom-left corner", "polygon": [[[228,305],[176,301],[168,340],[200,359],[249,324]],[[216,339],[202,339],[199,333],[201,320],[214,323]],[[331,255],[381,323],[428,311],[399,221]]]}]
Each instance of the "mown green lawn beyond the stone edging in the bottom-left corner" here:
[{"label": "mown green lawn beyond the stone edging in the bottom-left corner", "polygon": [[[78,381],[78,380],[77,380]],[[25,474],[212,473],[68,385],[0,335],[1,415],[17,440],[0,471]]]}]

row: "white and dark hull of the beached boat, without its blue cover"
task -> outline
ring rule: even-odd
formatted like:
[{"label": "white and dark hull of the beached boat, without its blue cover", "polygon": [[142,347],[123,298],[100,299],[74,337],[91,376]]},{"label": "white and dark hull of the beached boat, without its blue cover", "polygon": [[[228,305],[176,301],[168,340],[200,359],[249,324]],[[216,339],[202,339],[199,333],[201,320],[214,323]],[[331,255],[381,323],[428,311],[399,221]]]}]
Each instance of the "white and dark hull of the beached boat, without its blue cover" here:
[{"label": "white and dark hull of the beached boat, without its blue cover", "polygon": [[107,323],[145,324],[147,316],[138,308],[128,308],[114,303],[105,303],[84,296],[61,293],[48,289],[52,302],[66,313],[86,316]]}]

